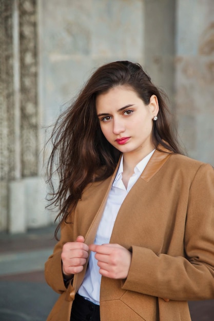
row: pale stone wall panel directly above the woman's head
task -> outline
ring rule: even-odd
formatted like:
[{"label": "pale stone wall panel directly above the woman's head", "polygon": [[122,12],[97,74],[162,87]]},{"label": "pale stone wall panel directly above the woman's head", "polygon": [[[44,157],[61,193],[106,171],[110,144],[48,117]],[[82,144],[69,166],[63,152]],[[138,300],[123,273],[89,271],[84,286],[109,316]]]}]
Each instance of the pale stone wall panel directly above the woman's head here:
[{"label": "pale stone wall panel directly above the woman's head", "polygon": [[93,0],[92,57],[131,60],[143,56],[144,2],[135,0]]}]

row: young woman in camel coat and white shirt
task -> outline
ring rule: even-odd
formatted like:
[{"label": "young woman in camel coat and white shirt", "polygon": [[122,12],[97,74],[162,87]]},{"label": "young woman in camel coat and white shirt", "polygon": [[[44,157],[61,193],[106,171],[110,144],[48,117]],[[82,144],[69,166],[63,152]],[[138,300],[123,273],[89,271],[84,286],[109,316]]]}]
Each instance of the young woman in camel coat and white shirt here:
[{"label": "young woman in camel coat and white shirt", "polygon": [[[48,320],[188,321],[214,298],[214,171],[180,151],[139,64],[100,67],[54,128]],[[55,170],[55,171],[54,171]]]}]

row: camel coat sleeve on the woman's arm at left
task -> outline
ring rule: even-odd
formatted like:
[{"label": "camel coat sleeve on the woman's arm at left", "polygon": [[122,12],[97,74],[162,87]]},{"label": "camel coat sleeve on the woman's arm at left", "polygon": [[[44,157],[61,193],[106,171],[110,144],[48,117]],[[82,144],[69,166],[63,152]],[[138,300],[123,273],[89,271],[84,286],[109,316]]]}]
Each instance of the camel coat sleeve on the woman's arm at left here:
[{"label": "camel coat sleeve on the woman's arm at left", "polygon": [[66,291],[62,272],[61,253],[66,242],[72,242],[72,223],[63,223],[60,241],[55,245],[53,254],[45,263],[45,279],[47,284],[57,293]]}]

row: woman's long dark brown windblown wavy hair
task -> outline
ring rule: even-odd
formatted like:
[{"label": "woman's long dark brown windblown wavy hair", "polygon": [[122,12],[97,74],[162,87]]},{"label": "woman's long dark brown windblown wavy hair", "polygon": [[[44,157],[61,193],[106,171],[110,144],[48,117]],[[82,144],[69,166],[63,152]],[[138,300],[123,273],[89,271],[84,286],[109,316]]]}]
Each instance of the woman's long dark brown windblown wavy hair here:
[{"label": "woman's long dark brown windblown wavy hair", "polygon": [[[59,207],[59,224],[67,222],[70,211],[81,198],[84,188],[93,181],[109,177],[118,163],[121,152],[104,137],[96,115],[96,97],[115,86],[131,87],[148,105],[156,95],[159,102],[158,120],[153,122],[152,140],[155,148],[161,146],[174,153],[182,153],[176,134],[169,121],[167,97],[155,87],[139,64],[118,61],[98,68],[83,87],[76,100],[57,119],[50,141],[52,152],[48,160],[48,180],[52,188],[50,206]],[[102,169],[102,170],[101,170]],[[59,176],[59,186],[54,189],[52,180]]]}]

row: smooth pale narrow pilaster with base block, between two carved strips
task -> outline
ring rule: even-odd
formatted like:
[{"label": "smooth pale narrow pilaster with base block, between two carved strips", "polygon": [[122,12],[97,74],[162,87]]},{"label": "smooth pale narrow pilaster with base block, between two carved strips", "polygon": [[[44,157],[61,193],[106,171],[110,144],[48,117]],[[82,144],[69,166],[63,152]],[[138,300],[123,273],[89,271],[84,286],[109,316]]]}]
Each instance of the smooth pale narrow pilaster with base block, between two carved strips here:
[{"label": "smooth pale narrow pilaster with base block, between two carved strips", "polygon": [[20,113],[20,15],[18,11],[19,0],[13,0],[12,6],[12,47],[13,47],[13,113],[14,123],[14,175],[9,179],[8,188],[8,231],[10,233],[25,232],[25,188],[21,175],[21,113]]}]

